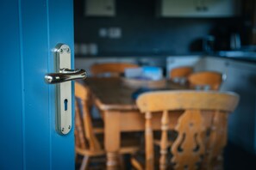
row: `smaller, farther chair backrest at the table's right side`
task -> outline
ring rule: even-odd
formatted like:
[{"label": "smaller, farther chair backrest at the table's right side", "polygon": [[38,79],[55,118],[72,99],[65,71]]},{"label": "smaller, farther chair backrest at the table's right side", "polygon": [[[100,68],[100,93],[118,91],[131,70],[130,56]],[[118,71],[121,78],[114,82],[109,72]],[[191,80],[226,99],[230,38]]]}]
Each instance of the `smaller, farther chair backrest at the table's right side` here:
[{"label": "smaller, farther chair backrest at the table's right side", "polygon": [[194,71],[194,69],[190,66],[182,66],[182,67],[173,68],[170,71],[170,78],[174,79],[174,78],[180,78],[180,77],[187,77],[193,71]]}]

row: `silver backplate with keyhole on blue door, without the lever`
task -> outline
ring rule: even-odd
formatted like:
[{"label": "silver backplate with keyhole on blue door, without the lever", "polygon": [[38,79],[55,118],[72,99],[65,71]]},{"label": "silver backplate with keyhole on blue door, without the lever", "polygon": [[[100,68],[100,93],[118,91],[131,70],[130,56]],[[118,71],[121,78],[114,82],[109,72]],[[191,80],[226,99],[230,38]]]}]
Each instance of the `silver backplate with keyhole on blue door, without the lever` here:
[{"label": "silver backplate with keyhole on blue door, without the lever", "polygon": [[[59,44],[54,50],[55,72],[71,69],[71,49]],[[72,82],[56,84],[56,131],[60,135],[68,134],[72,129]]]}]

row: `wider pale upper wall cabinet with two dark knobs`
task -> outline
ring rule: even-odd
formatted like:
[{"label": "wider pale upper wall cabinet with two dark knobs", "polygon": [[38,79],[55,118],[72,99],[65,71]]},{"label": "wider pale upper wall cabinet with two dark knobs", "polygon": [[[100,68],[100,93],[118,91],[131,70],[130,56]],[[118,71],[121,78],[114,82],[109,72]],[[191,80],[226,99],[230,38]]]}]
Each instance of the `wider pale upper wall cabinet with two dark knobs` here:
[{"label": "wider pale upper wall cabinet with two dark knobs", "polygon": [[232,17],[240,15],[240,0],[159,0],[162,17]]}]

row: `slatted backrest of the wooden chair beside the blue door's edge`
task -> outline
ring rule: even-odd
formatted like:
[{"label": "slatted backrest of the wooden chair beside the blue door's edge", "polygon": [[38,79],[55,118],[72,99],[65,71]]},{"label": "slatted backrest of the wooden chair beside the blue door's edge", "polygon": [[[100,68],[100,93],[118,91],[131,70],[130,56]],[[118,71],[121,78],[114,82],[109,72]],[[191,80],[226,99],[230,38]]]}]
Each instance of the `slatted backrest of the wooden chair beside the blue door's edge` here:
[{"label": "slatted backrest of the wooden chair beside the blue door's edge", "polygon": [[97,151],[101,149],[97,137],[93,132],[90,112],[90,91],[84,85],[75,82],[76,115],[75,115],[75,139],[76,150],[84,149]]}]

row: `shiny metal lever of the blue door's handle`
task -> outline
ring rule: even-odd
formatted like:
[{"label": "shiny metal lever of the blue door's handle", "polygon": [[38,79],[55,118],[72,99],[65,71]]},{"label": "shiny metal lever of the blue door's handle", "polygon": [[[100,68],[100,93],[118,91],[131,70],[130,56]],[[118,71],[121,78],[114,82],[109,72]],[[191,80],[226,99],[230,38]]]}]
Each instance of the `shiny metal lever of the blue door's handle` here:
[{"label": "shiny metal lever of the blue door's handle", "polygon": [[49,73],[45,76],[45,82],[48,84],[55,84],[60,82],[67,82],[76,79],[85,79],[86,72],[85,70],[69,70],[69,69],[60,69],[59,73]]}]

